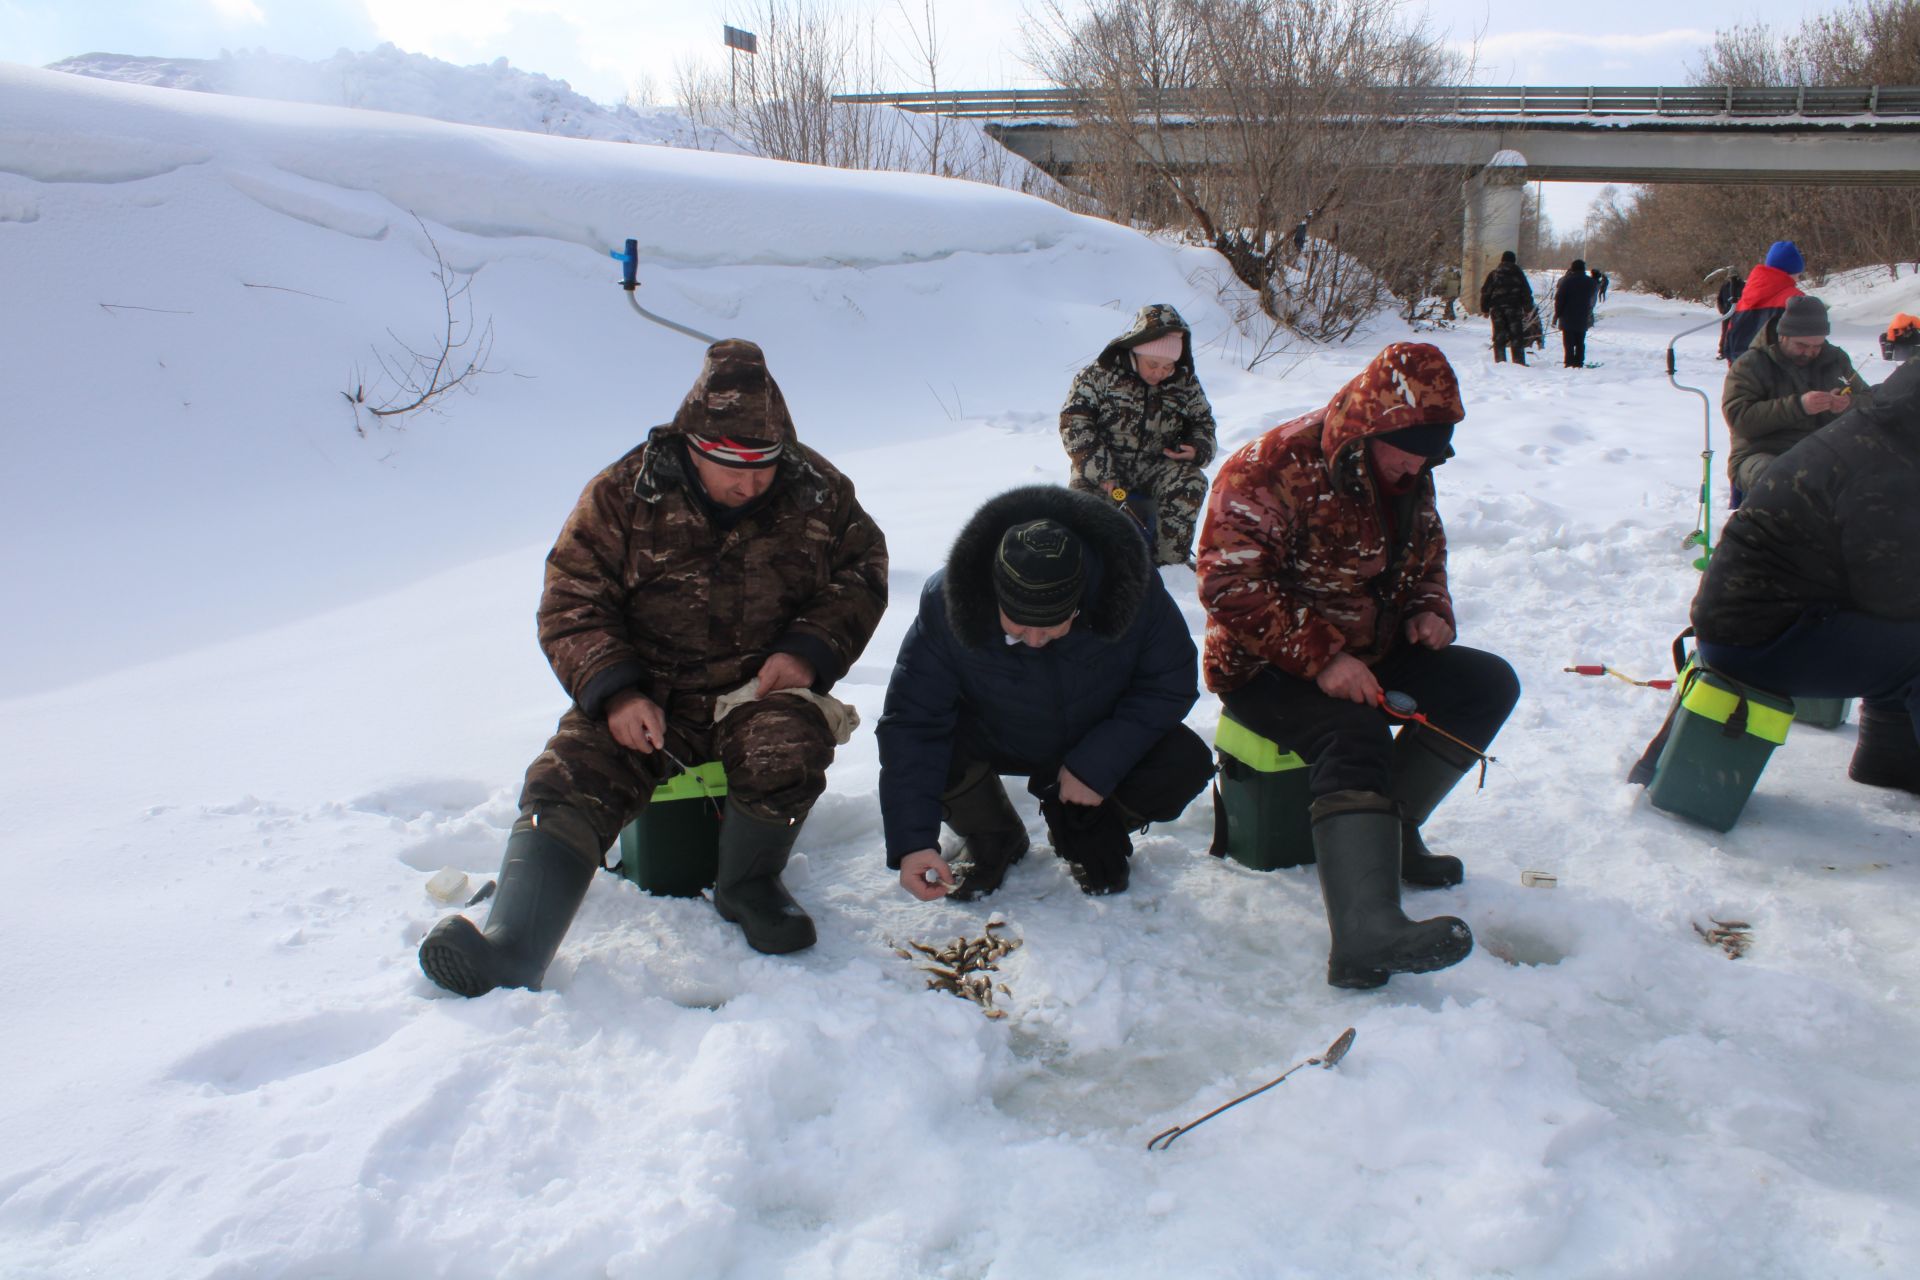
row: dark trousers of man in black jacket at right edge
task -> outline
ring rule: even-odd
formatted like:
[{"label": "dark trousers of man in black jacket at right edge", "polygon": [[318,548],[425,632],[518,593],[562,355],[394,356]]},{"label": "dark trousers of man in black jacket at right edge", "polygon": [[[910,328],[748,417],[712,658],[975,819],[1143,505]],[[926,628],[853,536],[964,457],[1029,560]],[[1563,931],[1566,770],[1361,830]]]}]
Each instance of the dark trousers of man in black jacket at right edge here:
[{"label": "dark trousers of man in black jacket at right edge", "polygon": [[1755,689],[1807,699],[1864,699],[1907,712],[1920,733],[1920,620],[1807,610],[1766,645],[1699,643],[1699,658]]}]

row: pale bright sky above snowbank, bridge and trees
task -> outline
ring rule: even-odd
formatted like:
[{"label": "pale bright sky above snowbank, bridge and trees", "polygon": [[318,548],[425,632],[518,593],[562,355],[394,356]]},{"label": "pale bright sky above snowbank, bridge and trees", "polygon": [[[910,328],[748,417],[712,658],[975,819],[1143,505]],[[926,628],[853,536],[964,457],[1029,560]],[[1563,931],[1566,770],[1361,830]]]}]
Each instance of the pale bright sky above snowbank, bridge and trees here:
[{"label": "pale bright sky above snowbank, bridge and trees", "polygon": [[[924,10],[924,0],[826,2],[870,15],[881,40],[900,48],[902,13]],[[1035,83],[1021,33],[1039,4],[937,0],[947,86]],[[1797,0],[1411,0],[1405,12],[1425,13],[1457,44],[1476,42],[1482,84],[1676,84],[1715,29],[1740,21],[1795,27],[1824,8]],[[88,52],[217,58],[238,48],[326,58],[394,42],[455,63],[507,58],[601,102],[636,86],[666,100],[676,65],[718,65],[720,25],[753,27],[751,12],[741,0],[0,0],[0,61],[44,65]],[[910,71],[900,71],[899,86],[916,86]],[[1548,213],[1572,226],[1588,200],[1592,188],[1549,186]]]}]

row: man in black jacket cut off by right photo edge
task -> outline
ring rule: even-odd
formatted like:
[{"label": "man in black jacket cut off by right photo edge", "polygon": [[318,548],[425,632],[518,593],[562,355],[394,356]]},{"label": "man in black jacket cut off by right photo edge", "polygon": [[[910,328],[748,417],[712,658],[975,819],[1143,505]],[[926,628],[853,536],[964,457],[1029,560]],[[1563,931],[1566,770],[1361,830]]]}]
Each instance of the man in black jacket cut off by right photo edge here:
[{"label": "man in black jacket cut off by right photo edge", "polygon": [[1920,793],[1916,491],[1920,359],[1766,466],[1726,522],[1693,597],[1701,662],[1770,693],[1862,699],[1847,773],[1912,793]]}]

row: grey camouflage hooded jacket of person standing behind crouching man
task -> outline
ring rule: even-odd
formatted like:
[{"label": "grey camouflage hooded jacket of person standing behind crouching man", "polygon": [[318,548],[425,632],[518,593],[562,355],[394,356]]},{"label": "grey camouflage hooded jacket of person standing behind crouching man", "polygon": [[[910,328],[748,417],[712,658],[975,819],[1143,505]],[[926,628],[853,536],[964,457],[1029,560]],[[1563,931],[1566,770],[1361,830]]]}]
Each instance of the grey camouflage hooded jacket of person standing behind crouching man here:
[{"label": "grey camouflage hooded jacket of person standing behind crouching man", "polygon": [[[1150,388],[1133,372],[1133,349],[1165,334],[1181,336],[1181,359]],[[1179,311],[1140,307],[1127,332],[1079,370],[1060,409],[1060,439],[1073,462],[1071,486],[1092,493],[1137,484],[1135,466],[1165,461],[1162,449],[1192,445],[1192,466],[1213,461],[1213,407],[1194,376],[1192,332]]]}]

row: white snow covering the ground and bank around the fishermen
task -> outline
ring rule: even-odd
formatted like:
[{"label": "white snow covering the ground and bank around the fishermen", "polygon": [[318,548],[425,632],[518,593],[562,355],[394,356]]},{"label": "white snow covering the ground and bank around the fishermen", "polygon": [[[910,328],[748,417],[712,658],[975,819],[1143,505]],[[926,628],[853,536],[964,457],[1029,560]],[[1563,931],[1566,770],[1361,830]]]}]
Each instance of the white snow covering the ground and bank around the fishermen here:
[{"label": "white snow covering the ground and bank around the fishermen", "polygon": [[[442,320],[411,215],[497,372],[361,434],[355,368]],[[1064,476],[1066,384],[1139,303],[1194,322],[1227,447],[1404,336],[1244,372],[1212,255],[964,182],[0,67],[0,1274],[1916,1268],[1920,802],[1795,729],[1740,827],[1690,827],[1620,781],[1665,697],[1561,672],[1663,674],[1686,620],[1701,409],[1661,349],[1699,307],[1617,294],[1584,372],[1427,334],[1469,405],[1463,639],[1526,685],[1430,825],[1467,885],[1413,900],[1473,925],[1465,963],[1329,988],[1311,871],[1208,858],[1204,804],[1125,896],[1041,844],[991,904],[916,904],[862,731],[789,873],[818,948],[605,875],[545,992],[430,986],[426,879],[492,875],[563,710],[545,547],[699,365],[612,284],[626,236],[649,307],[766,345],[889,535],[841,685],[868,723],[920,581],[983,497]],[[1885,376],[1920,280],[1828,297]],[[1682,380],[1716,399],[1711,349]],[[989,912],[1025,940],[1004,1021],[891,948]],[[1338,1069],[1144,1150],[1344,1027]]]}]

